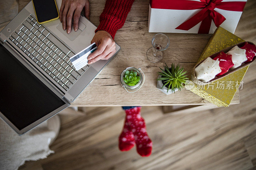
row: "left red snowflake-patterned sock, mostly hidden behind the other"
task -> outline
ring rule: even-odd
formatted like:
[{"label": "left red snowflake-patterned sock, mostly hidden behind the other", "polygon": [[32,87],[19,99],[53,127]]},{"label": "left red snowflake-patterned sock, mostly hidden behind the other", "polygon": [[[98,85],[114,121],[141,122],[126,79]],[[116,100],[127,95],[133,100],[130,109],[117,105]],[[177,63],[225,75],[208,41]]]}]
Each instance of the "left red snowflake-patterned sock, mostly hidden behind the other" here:
[{"label": "left red snowflake-patterned sock, mostly hidden behind the other", "polygon": [[119,149],[120,151],[129,151],[135,145],[134,136],[130,129],[127,118],[125,118],[124,129],[119,136]]}]

